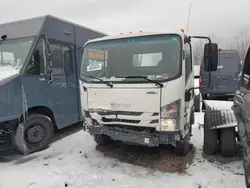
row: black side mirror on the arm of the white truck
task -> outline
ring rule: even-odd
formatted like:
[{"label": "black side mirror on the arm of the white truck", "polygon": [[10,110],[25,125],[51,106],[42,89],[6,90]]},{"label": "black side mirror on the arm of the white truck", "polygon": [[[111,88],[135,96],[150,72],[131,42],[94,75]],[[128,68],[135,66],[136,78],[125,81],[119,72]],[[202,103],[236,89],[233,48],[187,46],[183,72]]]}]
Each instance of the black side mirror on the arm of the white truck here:
[{"label": "black side mirror on the arm of the white truck", "polygon": [[204,70],[206,72],[216,71],[218,66],[218,44],[207,43],[204,47]]}]

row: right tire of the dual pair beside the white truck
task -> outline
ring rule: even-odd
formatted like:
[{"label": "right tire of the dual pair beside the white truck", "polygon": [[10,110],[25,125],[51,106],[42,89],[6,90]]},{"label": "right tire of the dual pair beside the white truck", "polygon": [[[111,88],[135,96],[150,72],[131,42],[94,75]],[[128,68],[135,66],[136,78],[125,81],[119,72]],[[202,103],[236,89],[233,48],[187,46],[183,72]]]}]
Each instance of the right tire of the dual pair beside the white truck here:
[{"label": "right tire of the dual pair beside the white truck", "polygon": [[235,128],[220,130],[220,150],[224,156],[232,157],[236,148]]}]

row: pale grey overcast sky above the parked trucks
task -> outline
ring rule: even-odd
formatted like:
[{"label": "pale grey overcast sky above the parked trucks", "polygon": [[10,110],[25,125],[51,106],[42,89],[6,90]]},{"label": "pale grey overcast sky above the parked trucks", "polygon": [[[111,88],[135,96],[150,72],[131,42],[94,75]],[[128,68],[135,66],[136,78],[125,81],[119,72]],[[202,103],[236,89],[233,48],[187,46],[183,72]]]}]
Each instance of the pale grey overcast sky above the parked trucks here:
[{"label": "pale grey overcast sky above the parked trucks", "polygon": [[[51,14],[108,33],[187,27],[189,0],[7,0],[0,23]],[[250,27],[250,0],[192,0],[189,33],[230,37]]]}]

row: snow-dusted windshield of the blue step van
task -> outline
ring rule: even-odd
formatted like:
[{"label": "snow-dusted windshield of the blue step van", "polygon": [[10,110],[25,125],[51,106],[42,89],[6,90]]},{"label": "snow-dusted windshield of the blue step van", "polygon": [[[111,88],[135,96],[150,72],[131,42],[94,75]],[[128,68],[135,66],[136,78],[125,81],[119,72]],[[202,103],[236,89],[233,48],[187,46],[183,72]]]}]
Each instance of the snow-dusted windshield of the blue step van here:
[{"label": "snow-dusted windshield of the blue step van", "polygon": [[28,56],[34,37],[1,41],[0,67],[20,70]]}]

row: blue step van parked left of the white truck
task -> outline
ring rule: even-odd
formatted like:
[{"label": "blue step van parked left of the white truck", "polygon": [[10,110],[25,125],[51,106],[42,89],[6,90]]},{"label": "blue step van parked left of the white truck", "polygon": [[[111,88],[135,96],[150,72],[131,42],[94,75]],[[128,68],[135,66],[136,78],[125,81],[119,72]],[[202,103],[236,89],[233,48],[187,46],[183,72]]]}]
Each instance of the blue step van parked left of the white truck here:
[{"label": "blue step van parked left of the white truck", "polygon": [[54,129],[84,120],[82,46],[106,34],[46,15],[0,25],[0,150],[49,145]]}]

